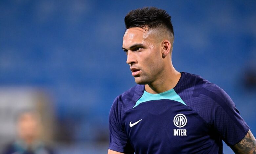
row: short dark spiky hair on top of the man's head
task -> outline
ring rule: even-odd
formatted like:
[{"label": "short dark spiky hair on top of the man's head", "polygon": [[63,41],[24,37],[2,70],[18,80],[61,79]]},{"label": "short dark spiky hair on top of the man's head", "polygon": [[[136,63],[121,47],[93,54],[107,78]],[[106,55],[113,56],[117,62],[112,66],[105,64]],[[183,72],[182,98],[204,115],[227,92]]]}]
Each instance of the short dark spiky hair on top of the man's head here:
[{"label": "short dark spiky hair on top of the man's head", "polygon": [[171,16],[162,9],[156,7],[143,7],[131,10],[124,18],[126,29],[132,27],[147,27],[149,29],[165,27],[171,38],[174,39]]}]

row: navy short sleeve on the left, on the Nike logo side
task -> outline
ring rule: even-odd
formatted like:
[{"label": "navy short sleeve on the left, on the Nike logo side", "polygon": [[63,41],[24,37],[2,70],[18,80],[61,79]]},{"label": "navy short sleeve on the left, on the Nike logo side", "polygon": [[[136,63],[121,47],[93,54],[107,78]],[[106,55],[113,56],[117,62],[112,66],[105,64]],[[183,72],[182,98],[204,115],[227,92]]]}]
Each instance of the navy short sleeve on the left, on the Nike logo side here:
[{"label": "navy short sleeve on the left, on the Nike logo side", "polygon": [[122,106],[115,99],[109,113],[109,149],[117,152],[134,153],[121,124]]}]

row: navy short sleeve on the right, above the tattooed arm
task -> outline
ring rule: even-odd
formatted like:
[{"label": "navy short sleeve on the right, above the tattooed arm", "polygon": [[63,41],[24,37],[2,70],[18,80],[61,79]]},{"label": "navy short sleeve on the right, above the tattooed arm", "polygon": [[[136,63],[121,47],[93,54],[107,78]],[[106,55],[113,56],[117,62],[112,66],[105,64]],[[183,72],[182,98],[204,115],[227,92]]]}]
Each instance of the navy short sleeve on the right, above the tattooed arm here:
[{"label": "navy short sleeve on the right, above the tattooed arm", "polygon": [[228,145],[237,144],[249,131],[249,126],[243,120],[232,99],[219,89],[215,100],[219,104],[214,111],[213,124]]}]

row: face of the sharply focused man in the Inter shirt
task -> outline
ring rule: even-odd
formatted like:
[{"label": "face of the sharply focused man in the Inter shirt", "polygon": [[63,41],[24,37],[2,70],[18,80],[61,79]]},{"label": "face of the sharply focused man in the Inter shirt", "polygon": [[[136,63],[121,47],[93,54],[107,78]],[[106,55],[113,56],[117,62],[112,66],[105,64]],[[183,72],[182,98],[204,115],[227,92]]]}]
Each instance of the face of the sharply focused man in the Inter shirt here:
[{"label": "face of the sharply focused man in the Inter shirt", "polygon": [[132,76],[137,84],[151,84],[163,70],[161,46],[155,30],[129,28],[123,37],[123,50],[127,54]]}]

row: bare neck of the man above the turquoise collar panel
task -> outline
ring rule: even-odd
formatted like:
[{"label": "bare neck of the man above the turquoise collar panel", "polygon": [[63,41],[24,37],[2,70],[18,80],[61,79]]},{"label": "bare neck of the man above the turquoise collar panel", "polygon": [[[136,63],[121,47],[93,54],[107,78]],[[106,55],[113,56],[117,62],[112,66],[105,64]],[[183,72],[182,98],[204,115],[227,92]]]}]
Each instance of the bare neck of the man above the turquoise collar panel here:
[{"label": "bare neck of the man above the turquoise collar panel", "polygon": [[152,94],[158,94],[168,91],[177,85],[180,78],[181,73],[174,69],[173,71],[170,71],[168,74],[162,77],[160,80],[145,85],[145,90],[148,93]]}]

